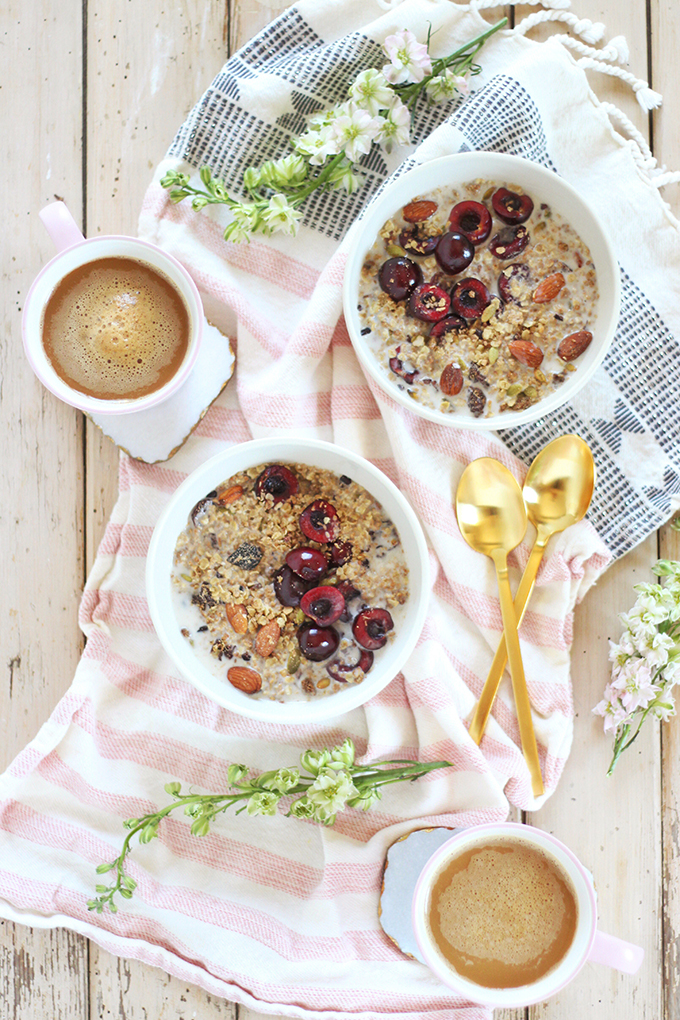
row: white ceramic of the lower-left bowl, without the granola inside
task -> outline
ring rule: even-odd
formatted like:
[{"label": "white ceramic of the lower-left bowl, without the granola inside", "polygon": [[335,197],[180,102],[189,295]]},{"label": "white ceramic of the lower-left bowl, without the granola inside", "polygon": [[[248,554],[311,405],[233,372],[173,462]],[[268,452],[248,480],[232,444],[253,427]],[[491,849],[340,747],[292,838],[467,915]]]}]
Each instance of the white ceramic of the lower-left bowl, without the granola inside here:
[{"label": "white ceramic of the lower-left bowl, without the granola inside", "polygon": [[[310,701],[278,703],[256,700],[214,676],[194,655],[179,632],[172,598],[170,571],[177,537],[187,526],[198,501],[237,471],[264,463],[299,463],[348,474],[383,506],[397,526],[409,568],[410,598],[394,640],[375,656],[366,679],[337,694]],[[396,486],[367,460],[330,443],[316,440],[256,440],[217,454],[179,486],[154,530],[147,558],[147,597],[161,645],[188,680],[224,708],[254,719],[278,723],[306,723],[328,719],[363,705],[400,671],[415,648],[425,621],[429,595],[425,539],[411,506]]]}]

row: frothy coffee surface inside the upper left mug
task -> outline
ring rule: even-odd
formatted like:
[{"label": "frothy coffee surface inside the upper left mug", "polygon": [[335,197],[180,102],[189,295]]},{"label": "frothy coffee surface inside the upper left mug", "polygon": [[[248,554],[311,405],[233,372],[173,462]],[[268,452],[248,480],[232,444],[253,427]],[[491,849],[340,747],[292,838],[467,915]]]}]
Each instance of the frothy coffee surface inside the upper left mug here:
[{"label": "frothy coffee surface inside the upper left mug", "polygon": [[174,375],[189,334],[187,307],[165,276],[137,259],[107,258],[61,280],[45,310],[43,344],[69,386],[132,399]]}]

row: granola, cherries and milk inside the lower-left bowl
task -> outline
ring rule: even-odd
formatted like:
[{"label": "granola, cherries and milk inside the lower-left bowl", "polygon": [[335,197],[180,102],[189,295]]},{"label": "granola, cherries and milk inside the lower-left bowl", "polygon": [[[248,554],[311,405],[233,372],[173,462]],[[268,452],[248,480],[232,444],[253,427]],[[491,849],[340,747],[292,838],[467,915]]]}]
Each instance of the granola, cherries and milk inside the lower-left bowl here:
[{"label": "granola, cherries and milk inside the lower-left bowl", "polygon": [[172,598],[213,675],[254,698],[361,683],[404,618],[408,567],[379,503],[347,475],[261,464],[194,507]]}]

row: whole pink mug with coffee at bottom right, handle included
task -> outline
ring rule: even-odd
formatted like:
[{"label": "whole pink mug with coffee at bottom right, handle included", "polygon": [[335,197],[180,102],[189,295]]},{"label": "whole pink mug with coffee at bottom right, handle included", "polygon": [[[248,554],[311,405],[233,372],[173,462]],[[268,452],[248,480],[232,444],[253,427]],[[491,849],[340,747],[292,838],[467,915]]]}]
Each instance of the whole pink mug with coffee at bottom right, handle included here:
[{"label": "whole pink mug with coffee at bottom right, handle included", "polygon": [[592,876],[550,832],[460,829],[424,865],[411,921],[420,959],[483,1006],[543,1002],[592,960],[634,974],[643,953],[597,929]]}]

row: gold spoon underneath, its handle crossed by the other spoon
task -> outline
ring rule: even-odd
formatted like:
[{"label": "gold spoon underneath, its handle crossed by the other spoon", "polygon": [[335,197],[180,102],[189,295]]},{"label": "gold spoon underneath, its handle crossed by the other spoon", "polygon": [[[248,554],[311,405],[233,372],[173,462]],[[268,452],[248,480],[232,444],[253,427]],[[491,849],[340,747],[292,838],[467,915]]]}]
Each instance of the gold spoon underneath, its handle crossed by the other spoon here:
[{"label": "gold spoon underneath, its handle crossed by the other spoon", "polygon": [[[592,454],[579,436],[561,436],[553,440],[529,467],[522,495],[528,518],[536,528],[536,541],[515,595],[518,627],[522,624],[548,540],[585,516],[594,484]],[[502,634],[470,724],[470,736],[475,744],[482,738],[507,661],[506,639]]]}]

